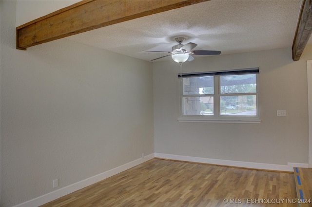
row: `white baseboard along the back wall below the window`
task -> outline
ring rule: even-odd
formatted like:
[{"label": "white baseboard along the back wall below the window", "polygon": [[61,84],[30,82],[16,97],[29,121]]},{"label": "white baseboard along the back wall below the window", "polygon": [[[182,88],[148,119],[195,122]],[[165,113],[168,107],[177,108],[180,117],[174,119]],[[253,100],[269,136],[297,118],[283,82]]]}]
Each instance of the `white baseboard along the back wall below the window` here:
[{"label": "white baseboard along the back wall below the window", "polygon": [[[183,156],[183,155],[163,154],[163,153],[155,153],[155,157],[162,158],[162,159],[213,164],[213,165],[221,165],[221,166],[246,167],[246,168],[254,168],[254,169],[276,170],[276,171],[287,171],[287,172],[293,172],[294,166],[297,166],[297,167],[308,166],[308,164],[298,164],[298,163],[288,163],[288,165],[251,163],[251,162],[219,160],[219,159],[190,157],[190,156]],[[293,165],[290,165],[290,164],[293,164]]]}]

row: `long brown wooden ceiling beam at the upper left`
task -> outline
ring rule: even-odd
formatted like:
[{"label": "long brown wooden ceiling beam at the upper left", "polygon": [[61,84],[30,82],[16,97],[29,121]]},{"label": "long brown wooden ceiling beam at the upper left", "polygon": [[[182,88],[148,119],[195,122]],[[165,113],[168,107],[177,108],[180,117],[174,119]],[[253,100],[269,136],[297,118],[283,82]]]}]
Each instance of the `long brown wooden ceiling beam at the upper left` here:
[{"label": "long brown wooden ceiling beam at the upper left", "polygon": [[83,0],[16,28],[16,48],[98,29],[207,0]]}]

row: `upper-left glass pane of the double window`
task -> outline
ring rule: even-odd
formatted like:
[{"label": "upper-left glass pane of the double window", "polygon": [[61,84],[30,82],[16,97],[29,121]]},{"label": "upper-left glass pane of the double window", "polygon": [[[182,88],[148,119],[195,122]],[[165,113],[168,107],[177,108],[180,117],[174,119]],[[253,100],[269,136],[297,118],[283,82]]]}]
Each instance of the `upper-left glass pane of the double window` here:
[{"label": "upper-left glass pane of the double window", "polygon": [[183,95],[214,94],[214,77],[183,78]]}]

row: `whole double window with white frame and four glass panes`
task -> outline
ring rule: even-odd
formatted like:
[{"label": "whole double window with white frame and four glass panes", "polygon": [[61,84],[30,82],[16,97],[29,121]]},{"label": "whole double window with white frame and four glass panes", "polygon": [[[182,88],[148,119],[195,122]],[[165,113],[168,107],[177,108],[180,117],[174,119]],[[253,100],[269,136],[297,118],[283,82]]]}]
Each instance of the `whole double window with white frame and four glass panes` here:
[{"label": "whole double window with white frame and four glass panes", "polygon": [[259,68],[180,74],[179,121],[259,123]]}]

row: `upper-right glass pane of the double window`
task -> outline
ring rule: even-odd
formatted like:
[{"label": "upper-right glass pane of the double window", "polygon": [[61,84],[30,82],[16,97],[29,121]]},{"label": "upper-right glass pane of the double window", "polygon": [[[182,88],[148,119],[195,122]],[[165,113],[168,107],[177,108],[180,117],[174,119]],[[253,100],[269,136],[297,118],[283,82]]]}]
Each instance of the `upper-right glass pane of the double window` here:
[{"label": "upper-right glass pane of the double window", "polygon": [[256,74],[220,76],[220,92],[256,93]]}]

